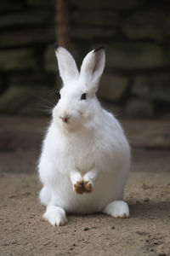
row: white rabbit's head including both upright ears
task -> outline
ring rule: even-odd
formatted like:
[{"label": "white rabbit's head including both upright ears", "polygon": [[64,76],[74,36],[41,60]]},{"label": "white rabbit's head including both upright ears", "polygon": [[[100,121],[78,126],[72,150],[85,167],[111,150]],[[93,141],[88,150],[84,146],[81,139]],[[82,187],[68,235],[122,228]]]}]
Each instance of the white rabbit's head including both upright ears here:
[{"label": "white rabbit's head including both upright ears", "polygon": [[63,47],[56,47],[59,73],[63,81],[60,99],[54,107],[54,121],[67,130],[77,130],[93,121],[99,108],[95,93],[105,67],[105,49],[99,47],[86,55],[80,73],[72,55]]}]

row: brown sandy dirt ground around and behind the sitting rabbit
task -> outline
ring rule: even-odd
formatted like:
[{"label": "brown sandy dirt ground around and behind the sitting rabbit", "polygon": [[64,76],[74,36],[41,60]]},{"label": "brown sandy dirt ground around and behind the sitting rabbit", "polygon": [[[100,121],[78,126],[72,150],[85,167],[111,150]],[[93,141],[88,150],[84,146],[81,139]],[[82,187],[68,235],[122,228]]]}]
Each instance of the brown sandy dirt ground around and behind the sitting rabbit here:
[{"label": "brown sandy dirt ground around and behind the sitting rabbit", "polygon": [[133,164],[131,218],[68,215],[52,227],[37,200],[47,119],[0,117],[0,255],[170,255],[170,121],[123,120]]}]

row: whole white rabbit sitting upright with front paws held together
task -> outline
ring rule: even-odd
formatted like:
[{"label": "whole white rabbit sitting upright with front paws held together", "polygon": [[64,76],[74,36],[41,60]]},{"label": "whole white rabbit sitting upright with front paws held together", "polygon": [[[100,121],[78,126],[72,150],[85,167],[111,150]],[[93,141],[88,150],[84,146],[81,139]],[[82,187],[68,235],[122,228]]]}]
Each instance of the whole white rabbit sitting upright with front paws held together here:
[{"label": "whole white rabbit sitting upright with front paws held together", "polygon": [[65,212],[105,212],[128,218],[122,201],[130,148],[116,118],[95,93],[105,67],[105,49],[88,53],[80,73],[71,54],[55,47],[63,80],[60,99],[43,142],[38,171],[43,184],[43,217],[52,225],[67,222]]}]

